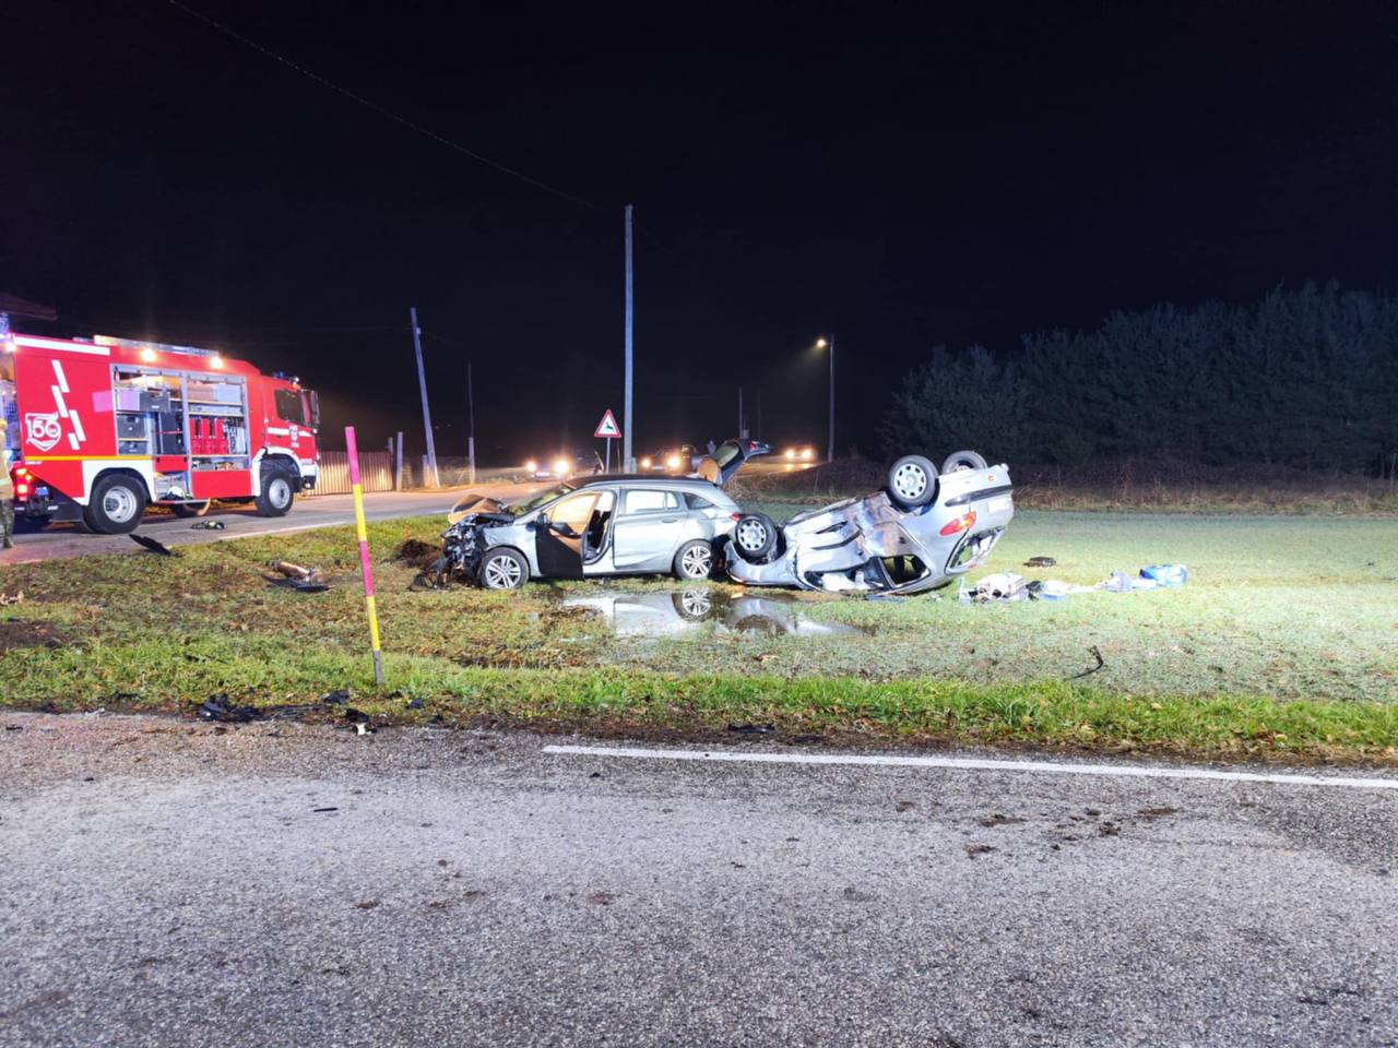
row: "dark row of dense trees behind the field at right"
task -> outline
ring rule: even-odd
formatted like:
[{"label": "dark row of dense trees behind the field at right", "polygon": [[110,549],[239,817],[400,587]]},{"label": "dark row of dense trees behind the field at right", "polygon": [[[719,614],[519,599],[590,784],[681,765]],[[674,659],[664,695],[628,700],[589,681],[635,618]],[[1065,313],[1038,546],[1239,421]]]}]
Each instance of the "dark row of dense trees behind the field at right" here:
[{"label": "dark row of dense trees behind the field at right", "polygon": [[1167,457],[1383,470],[1398,454],[1398,298],[1307,284],[1251,306],[1113,313],[1022,352],[938,348],[893,395],[891,451],[1076,465]]}]

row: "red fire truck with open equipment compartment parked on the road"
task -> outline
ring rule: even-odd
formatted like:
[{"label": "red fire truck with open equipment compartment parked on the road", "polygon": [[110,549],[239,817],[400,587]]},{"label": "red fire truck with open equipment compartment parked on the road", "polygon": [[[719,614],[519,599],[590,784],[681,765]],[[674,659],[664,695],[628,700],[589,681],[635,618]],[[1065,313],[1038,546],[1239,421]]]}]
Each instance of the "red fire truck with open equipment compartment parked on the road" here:
[{"label": "red fire truck with open equipment compartment parked on the road", "polygon": [[0,338],[15,516],[134,531],[151,503],[267,517],[316,486],[316,394],[208,349],[96,335]]}]

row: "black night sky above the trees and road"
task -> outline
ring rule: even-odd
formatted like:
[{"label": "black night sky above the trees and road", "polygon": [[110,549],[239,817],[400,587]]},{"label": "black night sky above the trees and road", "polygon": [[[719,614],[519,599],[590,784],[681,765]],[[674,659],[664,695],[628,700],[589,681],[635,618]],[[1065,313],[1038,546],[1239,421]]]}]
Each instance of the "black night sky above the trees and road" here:
[{"label": "black night sky above the trees and road", "polygon": [[1387,3],[190,6],[596,205],[165,0],[7,10],[0,291],[296,370],[362,443],[421,442],[410,305],[440,454],[467,359],[485,458],[619,414],[625,203],[637,451],[730,436],[740,383],[823,444],[826,330],[872,450],[938,342],[1398,275]]}]

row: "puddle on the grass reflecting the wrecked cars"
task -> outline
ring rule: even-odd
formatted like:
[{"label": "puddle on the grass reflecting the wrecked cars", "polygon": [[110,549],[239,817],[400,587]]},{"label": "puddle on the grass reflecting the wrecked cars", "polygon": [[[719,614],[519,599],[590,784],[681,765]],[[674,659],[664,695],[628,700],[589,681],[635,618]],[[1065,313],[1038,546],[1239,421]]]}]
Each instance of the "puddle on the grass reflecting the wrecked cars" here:
[{"label": "puddle on the grass reflecting the wrecked cars", "polygon": [[840,622],[808,619],[801,602],[780,597],[747,597],[695,587],[653,592],[603,592],[568,597],[565,608],[601,612],[618,637],[663,637],[707,625],[726,633],[830,637],[863,633]]}]

